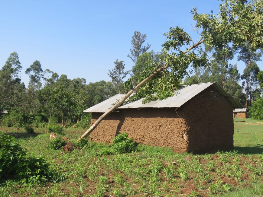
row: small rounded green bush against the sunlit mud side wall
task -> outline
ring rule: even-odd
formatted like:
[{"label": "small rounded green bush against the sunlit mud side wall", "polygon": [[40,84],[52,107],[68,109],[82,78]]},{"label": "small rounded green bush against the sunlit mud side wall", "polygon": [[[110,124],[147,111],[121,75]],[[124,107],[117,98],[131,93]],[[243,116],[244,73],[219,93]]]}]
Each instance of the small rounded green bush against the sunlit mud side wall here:
[{"label": "small rounded green bush against the sunlit mud side wall", "polygon": [[128,138],[128,134],[125,132],[119,133],[117,136],[115,136],[112,142],[112,148],[117,153],[130,153],[132,151],[136,151],[137,143],[131,138]]}]

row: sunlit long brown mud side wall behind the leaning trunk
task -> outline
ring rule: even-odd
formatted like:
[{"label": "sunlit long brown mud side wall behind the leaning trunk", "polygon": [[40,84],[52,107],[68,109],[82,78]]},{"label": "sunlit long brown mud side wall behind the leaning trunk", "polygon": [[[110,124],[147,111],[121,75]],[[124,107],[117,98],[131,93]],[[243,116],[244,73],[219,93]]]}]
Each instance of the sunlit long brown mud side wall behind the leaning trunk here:
[{"label": "sunlit long brown mud side wall behind the leaning trunk", "polygon": [[[92,113],[91,125],[101,115],[102,113]],[[141,144],[169,146],[187,151],[183,135],[186,135],[188,129],[186,121],[178,117],[174,108],[123,109],[103,120],[91,133],[90,139],[110,143],[115,135],[126,132],[130,138]]]}]

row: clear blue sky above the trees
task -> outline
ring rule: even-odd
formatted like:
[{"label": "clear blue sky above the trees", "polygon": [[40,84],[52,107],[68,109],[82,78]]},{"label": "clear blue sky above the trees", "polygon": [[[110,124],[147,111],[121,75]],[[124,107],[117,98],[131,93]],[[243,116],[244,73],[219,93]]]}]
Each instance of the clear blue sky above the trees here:
[{"label": "clear blue sky above the trees", "polygon": [[[147,34],[155,52],[164,43],[163,33],[171,26],[193,32],[192,7],[200,13],[217,13],[219,2],[202,1],[2,1],[0,0],[0,66],[16,51],[23,66],[21,78],[35,60],[68,78],[85,78],[87,83],[109,81],[116,59],[127,57],[134,31]],[[236,63],[236,58],[232,60]],[[237,62],[239,72],[245,68]],[[258,62],[263,69],[262,61]]]}]

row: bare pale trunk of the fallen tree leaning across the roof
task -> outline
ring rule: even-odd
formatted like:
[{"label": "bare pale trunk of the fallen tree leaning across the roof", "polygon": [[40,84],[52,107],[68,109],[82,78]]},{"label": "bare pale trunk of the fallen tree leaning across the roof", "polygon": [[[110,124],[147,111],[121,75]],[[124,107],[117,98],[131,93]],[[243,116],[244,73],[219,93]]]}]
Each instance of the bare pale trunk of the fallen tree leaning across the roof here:
[{"label": "bare pale trunk of the fallen tree leaning across the roof", "polygon": [[[187,53],[190,50],[192,50],[193,48],[196,48],[197,46],[199,46],[201,43],[203,43],[203,40],[200,40],[199,42],[197,42],[196,44],[192,45],[190,48],[188,48],[186,51],[184,51],[183,53]],[[169,68],[170,65],[165,65],[164,67],[159,68],[158,70],[154,71],[150,76],[148,76],[147,78],[145,78],[143,81],[141,81],[141,83],[139,83],[138,85],[136,85],[134,88],[132,88],[127,94],[125,94],[121,100],[119,100],[114,106],[112,106],[108,111],[106,111],[105,113],[103,113],[97,120],[96,122],[94,122],[94,124],[78,139],[85,139],[86,137],[88,137],[91,132],[93,132],[93,130],[99,125],[99,123],[106,117],[108,116],[110,113],[114,112],[119,106],[122,105],[122,103],[134,92],[136,91],[139,87],[141,87],[143,84],[145,84],[147,81],[151,80],[151,78],[153,78],[155,75],[157,75],[158,73],[160,73],[161,71],[163,71],[166,68]]]}]

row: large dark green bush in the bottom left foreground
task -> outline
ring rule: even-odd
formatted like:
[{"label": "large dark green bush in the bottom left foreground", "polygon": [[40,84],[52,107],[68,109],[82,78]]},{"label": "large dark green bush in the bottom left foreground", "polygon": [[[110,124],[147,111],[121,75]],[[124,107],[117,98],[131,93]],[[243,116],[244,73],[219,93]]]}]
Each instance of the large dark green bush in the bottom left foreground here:
[{"label": "large dark green bush in the bottom left foreground", "polygon": [[38,157],[29,157],[15,138],[0,132],[0,180],[51,178],[49,164]]}]

